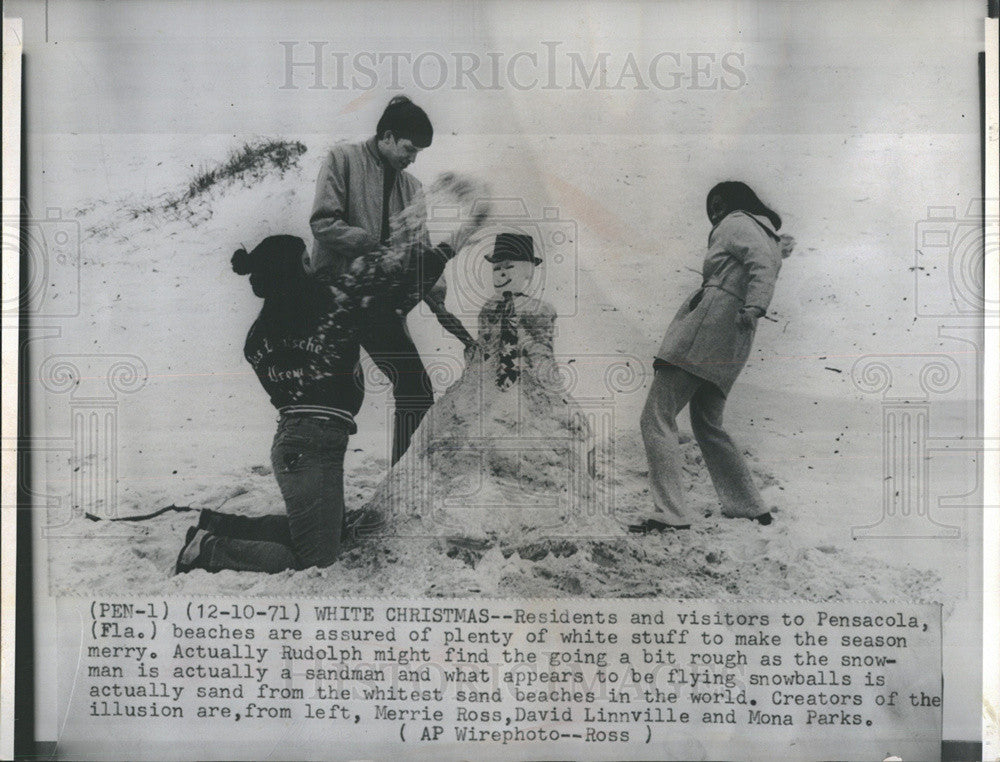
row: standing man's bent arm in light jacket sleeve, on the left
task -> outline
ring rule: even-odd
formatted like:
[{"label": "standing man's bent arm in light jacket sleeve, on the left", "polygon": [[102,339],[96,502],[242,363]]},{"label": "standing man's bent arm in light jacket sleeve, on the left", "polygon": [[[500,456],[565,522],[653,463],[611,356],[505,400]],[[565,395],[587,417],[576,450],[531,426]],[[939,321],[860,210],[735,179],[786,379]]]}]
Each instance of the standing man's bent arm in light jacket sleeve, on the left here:
[{"label": "standing man's bent arm in light jacket sleeve, on the left", "polygon": [[[316,179],[316,199],[309,215],[309,227],[316,240],[323,244],[322,248],[354,257],[370,251],[377,241],[364,228],[347,224],[347,177],[347,157],[334,148]],[[311,264],[315,271],[331,263],[313,261]]]}]

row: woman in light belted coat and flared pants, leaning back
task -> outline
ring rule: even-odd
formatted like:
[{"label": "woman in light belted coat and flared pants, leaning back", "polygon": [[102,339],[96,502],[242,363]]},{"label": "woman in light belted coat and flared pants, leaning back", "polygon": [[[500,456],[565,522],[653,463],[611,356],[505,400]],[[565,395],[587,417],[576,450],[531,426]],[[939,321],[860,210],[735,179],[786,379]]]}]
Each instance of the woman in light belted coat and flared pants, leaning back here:
[{"label": "woman in light belted coat and flared pants, leaning back", "polygon": [[[690,404],[691,428],[725,516],[771,523],[750,469],[722,428],[726,396],[767,313],[783,256],[781,218],[746,184],[724,182],[706,200],[712,232],[702,286],[677,311],[653,363],[642,411],[654,515],[633,532],[687,529],[677,415]],[[786,254],[787,255],[787,254]]]}]

